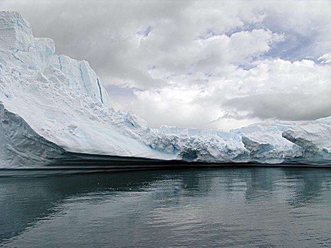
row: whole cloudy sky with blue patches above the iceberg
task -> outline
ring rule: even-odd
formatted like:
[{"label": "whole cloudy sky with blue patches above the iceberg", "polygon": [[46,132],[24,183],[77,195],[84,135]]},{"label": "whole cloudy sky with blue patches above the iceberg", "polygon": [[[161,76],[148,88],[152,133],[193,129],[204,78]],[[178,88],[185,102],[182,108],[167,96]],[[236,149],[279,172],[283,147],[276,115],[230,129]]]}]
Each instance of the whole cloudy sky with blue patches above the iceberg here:
[{"label": "whole cloudy sky with blue patches above the iceberg", "polygon": [[115,110],[230,130],[331,116],[330,0],[0,0],[86,60]]}]

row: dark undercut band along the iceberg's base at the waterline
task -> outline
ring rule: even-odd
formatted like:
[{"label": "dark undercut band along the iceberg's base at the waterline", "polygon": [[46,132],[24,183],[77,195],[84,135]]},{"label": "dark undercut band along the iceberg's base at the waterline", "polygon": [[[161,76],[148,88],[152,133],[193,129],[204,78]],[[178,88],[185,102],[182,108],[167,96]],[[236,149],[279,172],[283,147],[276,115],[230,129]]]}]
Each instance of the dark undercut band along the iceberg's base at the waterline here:
[{"label": "dark undercut band along the iceberg's base at the waterline", "polygon": [[331,164],[311,165],[304,163],[203,163],[178,160],[159,160],[141,157],[89,155],[66,153],[42,168],[0,169],[0,177],[50,176],[81,173],[120,172],[151,169],[190,169],[217,167],[310,167],[331,168]]}]

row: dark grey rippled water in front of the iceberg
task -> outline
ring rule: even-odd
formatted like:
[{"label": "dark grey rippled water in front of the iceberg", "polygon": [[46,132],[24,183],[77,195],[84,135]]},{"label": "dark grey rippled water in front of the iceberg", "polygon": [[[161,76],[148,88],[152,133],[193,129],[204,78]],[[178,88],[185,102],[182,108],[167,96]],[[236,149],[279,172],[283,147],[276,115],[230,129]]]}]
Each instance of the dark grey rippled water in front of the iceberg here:
[{"label": "dark grey rippled water in front of the iceberg", "polygon": [[0,247],[331,247],[331,169],[0,178]]}]

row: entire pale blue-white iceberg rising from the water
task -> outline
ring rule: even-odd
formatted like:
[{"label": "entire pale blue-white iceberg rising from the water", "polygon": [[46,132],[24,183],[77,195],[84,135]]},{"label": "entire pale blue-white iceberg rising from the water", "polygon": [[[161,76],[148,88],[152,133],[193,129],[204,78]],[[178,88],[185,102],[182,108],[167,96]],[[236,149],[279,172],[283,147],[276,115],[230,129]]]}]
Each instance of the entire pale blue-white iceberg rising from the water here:
[{"label": "entire pale blue-white iceberg rising from the water", "polygon": [[54,52],[53,40],[33,37],[20,13],[0,12],[1,169],[330,164],[331,117],[230,132],[154,129],[112,108],[88,62]]}]

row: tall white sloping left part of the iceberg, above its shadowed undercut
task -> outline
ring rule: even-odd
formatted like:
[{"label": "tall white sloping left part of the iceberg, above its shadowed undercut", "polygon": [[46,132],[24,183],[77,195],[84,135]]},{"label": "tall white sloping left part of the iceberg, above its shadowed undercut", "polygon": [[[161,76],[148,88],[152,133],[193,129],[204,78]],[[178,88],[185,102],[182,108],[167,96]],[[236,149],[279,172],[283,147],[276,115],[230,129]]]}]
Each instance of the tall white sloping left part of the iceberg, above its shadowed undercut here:
[{"label": "tall white sloping left part of the iceberg, above its shadowed undercut", "polygon": [[[68,152],[176,158],[153,150],[138,138],[136,129],[146,130],[148,125],[133,113],[113,110],[88,62],[54,55],[54,42],[34,38],[30,24],[17,12],[0,12],[0,20],[5,37],[0,43],[0,101],[6,111]],[[9,143],[5,141],[4,146]],[[43,161],[47,159],[34,164]]]}]

